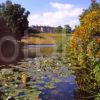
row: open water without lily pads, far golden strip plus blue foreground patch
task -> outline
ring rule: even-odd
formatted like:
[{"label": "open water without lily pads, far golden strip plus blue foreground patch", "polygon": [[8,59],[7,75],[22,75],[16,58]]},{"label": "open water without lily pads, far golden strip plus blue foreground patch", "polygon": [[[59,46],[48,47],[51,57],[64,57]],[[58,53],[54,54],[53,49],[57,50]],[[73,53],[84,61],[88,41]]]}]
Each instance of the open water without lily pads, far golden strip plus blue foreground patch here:
[{"label": "open water without lily pads, far golden strip plus blue foreground patch", "polygon": [[[29,57],[32,57],[32,55],[50,55],[54,52],[55,46],[54,44],[28,45],[24,46],[23,51],[25,53],[28,48]],[[76,89],[75,76],[70,75],[69,77],[61,77],[58,79],[60,82],[54,82],[53,88],[44,88],[46,83],[51,83],[48,77],[42,80],[44,82],[43,84],[36,84],[39,91],[41,91],[39,94],[40,100],[74,100],[74,91]]]}]

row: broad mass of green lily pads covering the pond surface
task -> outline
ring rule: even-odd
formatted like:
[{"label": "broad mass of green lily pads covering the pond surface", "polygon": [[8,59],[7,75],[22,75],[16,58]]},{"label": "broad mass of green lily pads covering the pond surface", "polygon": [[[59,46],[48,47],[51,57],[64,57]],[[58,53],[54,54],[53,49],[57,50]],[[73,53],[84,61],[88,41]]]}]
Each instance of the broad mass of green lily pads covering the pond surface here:
[{"label": "broad mass of green lily pads covering the pond surface", "polygon": [[1,100],[37,100],[42,89],[54,88],[62,77],[71,75],[60,54],[26,59],[9,66],[0,70]]}]

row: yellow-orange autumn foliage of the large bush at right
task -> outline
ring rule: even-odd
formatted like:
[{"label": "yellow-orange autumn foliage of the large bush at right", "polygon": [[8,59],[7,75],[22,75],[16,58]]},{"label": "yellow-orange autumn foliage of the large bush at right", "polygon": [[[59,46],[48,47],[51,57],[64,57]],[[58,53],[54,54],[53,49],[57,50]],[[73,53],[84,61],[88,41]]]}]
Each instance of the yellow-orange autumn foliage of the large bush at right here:
[{"label": "yellow-orange autumn foliage of the large bush at right", "polygon": [[98,53],[100,38],[96,39],[95,35],[100,34],[100,11],[89,12],[81,22],[70,40],[70,48],[77,55],[78,65],[84,66],[87,59],[93,59]]}]

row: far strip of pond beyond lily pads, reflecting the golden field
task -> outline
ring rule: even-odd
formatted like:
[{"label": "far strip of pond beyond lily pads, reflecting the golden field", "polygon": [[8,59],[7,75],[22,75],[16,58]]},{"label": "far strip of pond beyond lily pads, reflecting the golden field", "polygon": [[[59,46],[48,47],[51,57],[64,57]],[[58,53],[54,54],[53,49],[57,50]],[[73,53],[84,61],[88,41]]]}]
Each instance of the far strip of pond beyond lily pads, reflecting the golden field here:
[{"label": "far strip of pond beyond lily pads, reflecting the golden field", "polygon": [[51,55],[55,52],[55,49],[55,44],[24,45],[22,52],[25,56],[34,57]]}]

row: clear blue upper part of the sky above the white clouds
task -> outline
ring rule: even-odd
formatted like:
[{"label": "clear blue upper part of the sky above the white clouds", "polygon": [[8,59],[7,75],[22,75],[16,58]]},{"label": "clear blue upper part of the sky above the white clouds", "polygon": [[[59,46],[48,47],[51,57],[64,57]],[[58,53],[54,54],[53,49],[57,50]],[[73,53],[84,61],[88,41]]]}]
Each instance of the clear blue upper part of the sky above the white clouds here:
[{"label": "clear blue upper part of the sky above the white clouds", "polygon": [[[0,3],[6,0],[0,0]],[[30,12],[44,12],[47,10],[53,10],[49,2],[60,2],[60,3],[70,3],[76,5],[77,7],[87,8],[91,0],[11,0],[14,3],[19,3],[24,6]]]}]

